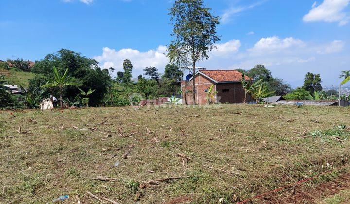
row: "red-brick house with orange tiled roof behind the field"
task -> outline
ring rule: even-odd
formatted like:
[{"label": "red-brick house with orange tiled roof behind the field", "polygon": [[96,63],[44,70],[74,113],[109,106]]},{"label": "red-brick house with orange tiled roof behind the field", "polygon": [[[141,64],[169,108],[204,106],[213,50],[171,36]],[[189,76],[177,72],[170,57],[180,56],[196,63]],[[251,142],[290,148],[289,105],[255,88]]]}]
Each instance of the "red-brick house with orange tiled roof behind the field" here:
[{"label": "red-brick house with orange tiled roof behind the field", "polygon": [[[206,99],[208,89],[214,85],[217,91],[215,100],[220,103],[242,103],[245,97],[245,91],[242,89],[241,81],[242,73],[236,70],[200,70],[195,76],[195,97],[198,105],[207,104]],[[245,76],[245,80],[250,78]],[[184,105],[192,105],[192,80],[181,82],[182,103]],[[191,93],[185,93],[186,90]],[[247,101],[251,101],[251,97],[247,96]]]}]

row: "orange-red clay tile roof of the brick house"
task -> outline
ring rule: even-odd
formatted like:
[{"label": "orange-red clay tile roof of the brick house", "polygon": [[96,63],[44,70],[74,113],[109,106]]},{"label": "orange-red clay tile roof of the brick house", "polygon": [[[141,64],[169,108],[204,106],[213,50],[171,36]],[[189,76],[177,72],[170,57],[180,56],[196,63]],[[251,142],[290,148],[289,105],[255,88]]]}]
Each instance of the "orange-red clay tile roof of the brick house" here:
[{"label": "orange-red clay tile roof of the brick house", "polygon": [[[200,70],[199,72],[202,72],[217,82],[240,81],[242,78],[242,73],[236,70]],[[245,76],[245,80],[249,79],[250,77]]]}]

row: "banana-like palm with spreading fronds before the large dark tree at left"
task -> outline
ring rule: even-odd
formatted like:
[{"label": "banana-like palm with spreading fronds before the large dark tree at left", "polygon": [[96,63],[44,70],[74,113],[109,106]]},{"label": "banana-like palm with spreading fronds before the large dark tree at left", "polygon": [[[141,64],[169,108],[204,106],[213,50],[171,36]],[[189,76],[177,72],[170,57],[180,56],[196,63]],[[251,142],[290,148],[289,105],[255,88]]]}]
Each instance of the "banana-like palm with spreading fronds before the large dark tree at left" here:
[{"label": "banana-like palm with spreading fronds before the large dark tree at left", "polygon": [[69,86],[69,85],[75,85],[80,86],[81,84],[74,82],[74,78],[67,77],[68,68],[66,69],[65,73],[59,74],[56,67],[53,67],[53,74],[54,74],[54,80],[53,82],[47,82],[45,85],[42,85],[43,88],[51,88],[51,87],[58,87],[60,90],[60,107],[63,108],[63,99],[62,99],[62,93],[63,93],[63,87]]}]

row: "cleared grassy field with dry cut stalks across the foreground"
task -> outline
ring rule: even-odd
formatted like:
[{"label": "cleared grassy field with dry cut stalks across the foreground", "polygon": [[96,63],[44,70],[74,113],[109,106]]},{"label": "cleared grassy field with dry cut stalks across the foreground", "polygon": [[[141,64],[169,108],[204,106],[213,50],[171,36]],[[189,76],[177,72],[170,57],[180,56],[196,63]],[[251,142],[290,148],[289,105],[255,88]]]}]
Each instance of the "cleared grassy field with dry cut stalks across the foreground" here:
[{"label": "cleared grassy field with dry cut stalks across the foreground", "polygon": [[87,191],[106,203],[235,203],[288,185],[252,202],[332,202],[322,185],[349,173],[345,125],[340,107],[3,111],[0,203],[98,202]]}]

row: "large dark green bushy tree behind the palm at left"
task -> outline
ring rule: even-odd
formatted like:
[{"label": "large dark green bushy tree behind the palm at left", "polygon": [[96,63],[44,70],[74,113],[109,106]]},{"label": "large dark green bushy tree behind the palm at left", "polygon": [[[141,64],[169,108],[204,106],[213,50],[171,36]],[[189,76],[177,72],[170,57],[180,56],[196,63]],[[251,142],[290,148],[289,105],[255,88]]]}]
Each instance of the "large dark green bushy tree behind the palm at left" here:
[{"label": "large dark green bushy tree behind the palm at left", "polygon": [[[67,49],[48,54],[44,59],[36,61],[35,65],[32,67],[32,72],[53,80],[53,67],[57,68],[58,73],[63,73],[66,68],[68,68],[67,76],[79,80],[82,84],[81,89],[84,91],[88,91],[90,88],[96,89],[96,91],[90,95],[90,106],[98,106],[101,104],[105,93],[108,92],[108,88],[112,83],[108,70],[101,70],[95,59],[81,56],[80,53]],[[39,78],[44,78],[40,76],[37,77],[37,80],[39,80]],[[37,83],[30,83],[29,88],[34,90],[37,88],[34,87],[36,85]],[[56,89],[50,89],[51,95],[54,95],[56,92]],[[74,98],[78,94],[80,94],[80,91],[75,87],[65,87],[63,89],[63,97],[65,98]]]}]

